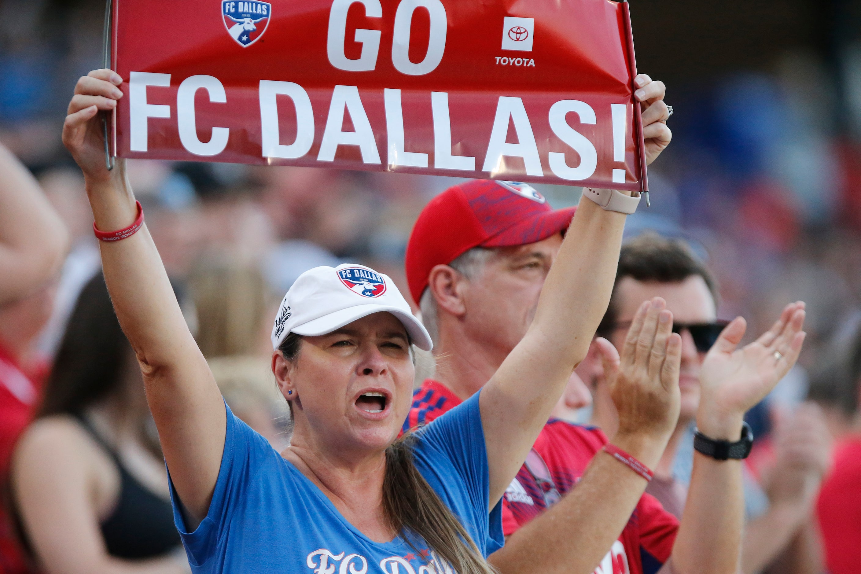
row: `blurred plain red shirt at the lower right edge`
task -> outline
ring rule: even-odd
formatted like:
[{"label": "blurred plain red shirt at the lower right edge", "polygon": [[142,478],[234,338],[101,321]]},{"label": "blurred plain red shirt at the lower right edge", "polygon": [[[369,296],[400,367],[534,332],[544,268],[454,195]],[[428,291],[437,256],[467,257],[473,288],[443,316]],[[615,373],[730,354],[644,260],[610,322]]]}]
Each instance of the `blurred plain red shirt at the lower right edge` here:
[{"label": "blurred plain red shirt at the lower right edge", "polygon": [[834,450],[832,472],[817,503],[825,556],[831,574],[856,574],[861,565],[861,436]]}]

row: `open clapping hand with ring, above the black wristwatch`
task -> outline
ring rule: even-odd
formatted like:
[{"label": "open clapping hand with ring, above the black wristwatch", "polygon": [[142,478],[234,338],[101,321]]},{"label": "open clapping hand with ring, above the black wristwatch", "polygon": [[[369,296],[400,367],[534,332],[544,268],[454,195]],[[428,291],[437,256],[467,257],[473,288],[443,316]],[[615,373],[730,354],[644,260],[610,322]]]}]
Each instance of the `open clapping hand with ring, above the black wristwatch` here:
[{"label": "open clapping hand with ring, above the black wristwatch", "polygon": [[697,427],[713,439],[736,441],[744,413],[765,398],[796,363],[806,333],[804,303],[784,307],[771,329],[738,349],[744,318],[735,318],[703,361]]}]

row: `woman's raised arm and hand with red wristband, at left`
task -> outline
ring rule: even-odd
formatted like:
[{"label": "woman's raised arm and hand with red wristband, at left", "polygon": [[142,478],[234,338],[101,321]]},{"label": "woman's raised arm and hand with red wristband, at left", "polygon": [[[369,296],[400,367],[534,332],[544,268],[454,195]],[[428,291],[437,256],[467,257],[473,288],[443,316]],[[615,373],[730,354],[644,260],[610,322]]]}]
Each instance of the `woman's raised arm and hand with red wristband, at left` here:
[{"label": "woman's raised arm and hand with red wristband, at left", "polygon": [[[118,160],[112,171],[105,168],[98,117],[99,110],[116,107],[121,83],[110,70],[81,77],[63,126],[63,143],[84,171],[100,231],[124,229],[137,217],[124,162]],[[170,477],[189,517],[200,521],[224,447],[226,413],[218,386],[185,324],[146,225],[129,238],[101,242],[101,250],[108,292],[138,357]]]}]

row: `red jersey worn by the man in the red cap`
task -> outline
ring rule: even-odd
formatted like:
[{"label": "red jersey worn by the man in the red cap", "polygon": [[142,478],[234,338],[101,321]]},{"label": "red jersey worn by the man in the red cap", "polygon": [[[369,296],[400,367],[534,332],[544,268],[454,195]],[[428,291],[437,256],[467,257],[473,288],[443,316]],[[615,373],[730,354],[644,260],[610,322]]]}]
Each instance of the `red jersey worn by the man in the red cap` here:
[{"label": "red jersey worn by the man in the red cap", "polygon": [[[458,404],[461,399],[446,386],[436,380],[425,380],[413,393],[404,430],[430,423]],[[520,468],[502,497],[505,535],[513,534],[540,515],[554,502],[557,492],[564,495],[571,491],[606,442],[607,437],[600,429],[551,419],[538,435],[530,460]],[[542,476],[545,472],[548,476]],[[644,494],[595,574],[659,571],[672,554],[677,531],[676,517],[666,512],[657,499]]]}]

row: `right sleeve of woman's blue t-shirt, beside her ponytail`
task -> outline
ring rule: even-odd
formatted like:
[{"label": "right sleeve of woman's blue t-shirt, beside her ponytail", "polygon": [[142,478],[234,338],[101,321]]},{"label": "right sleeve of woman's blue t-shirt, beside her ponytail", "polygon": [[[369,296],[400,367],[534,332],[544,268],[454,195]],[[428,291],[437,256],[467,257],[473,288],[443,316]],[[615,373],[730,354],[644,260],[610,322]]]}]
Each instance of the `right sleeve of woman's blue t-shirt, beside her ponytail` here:
[{"label": "right sleeve of woman's blue t-shirt, beside her ponytail", "polygon": [[419,472],[460,517],[487,556],[503,546],[505,537],[501,501],[488,508],[490,470],[479,396],[476,392],[420,429],[415,460]]}]

